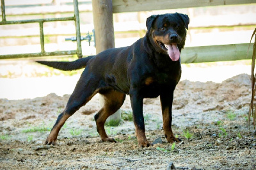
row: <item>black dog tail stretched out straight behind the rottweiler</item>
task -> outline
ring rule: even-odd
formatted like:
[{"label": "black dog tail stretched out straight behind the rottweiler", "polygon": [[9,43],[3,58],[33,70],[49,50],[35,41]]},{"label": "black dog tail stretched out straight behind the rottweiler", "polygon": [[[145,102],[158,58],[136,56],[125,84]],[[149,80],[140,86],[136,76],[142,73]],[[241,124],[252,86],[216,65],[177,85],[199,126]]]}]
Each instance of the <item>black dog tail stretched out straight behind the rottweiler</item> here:
[{"label": "black dog tail stretched out straight behind the rottweiler", "polygon": [[36,61],[36,63],[51,66],[52,68],[57,68],[59,70],[71,71],[84,68],[86,63],[93,57],[94,56],[88,56],[86,58],[80,58],[75,61]]}]

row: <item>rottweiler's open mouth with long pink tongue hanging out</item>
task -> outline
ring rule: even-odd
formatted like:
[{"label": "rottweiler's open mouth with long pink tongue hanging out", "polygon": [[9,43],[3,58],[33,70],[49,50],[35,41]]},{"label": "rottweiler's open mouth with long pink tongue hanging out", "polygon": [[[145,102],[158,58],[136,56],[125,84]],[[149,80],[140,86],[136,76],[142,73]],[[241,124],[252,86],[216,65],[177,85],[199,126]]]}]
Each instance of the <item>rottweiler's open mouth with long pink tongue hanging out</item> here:
[{"label": "rottweiler's open mouth with long pink tongue hanging out", "polygon": [[180,58],[180,51],[178,49],[177,43],[164,44],[162,42],[157,41],[157,44],[161,49],[168,53],[168,56],[172,59],[172,61],[177,61]]}]

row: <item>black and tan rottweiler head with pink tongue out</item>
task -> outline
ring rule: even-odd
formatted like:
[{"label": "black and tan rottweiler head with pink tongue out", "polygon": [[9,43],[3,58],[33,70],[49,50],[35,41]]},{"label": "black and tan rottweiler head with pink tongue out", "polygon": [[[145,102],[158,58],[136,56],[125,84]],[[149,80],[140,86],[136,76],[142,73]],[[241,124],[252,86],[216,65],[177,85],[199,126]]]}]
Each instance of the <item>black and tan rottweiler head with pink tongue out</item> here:
[{"label": "black and tan rottweiler head with pink tongue out", "polygon": [[146,22],[147,36],[157,52],[168,54],[173,61],[177,61],[185,45],[188,24],[188,15],[181,13],[152,15]]}]

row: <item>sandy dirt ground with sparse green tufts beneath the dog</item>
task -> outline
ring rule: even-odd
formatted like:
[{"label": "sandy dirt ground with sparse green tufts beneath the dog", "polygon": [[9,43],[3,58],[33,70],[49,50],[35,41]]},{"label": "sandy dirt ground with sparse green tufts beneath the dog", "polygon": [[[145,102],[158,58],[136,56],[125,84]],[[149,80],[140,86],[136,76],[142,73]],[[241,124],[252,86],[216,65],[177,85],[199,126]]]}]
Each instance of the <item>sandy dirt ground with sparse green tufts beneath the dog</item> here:
[{"label": "sandy dirt ground with sparse green tufts beneath the dog", "polygon": [[[56,146],[45,146],[69,95],[51,93],[24,100],[0,99],[0,169],[256,169],[256,135],[248,130],[250,75],[221,83],[179,82],[173,131],[182,143],[167,143],[159,98],[145,99],[146,135],[154,146],[139,148],[131,120],[106,126],[117,143],[102,143],[93,115],[99,95],[61,128]],[[131,114],[127,96],[122,114]],[[86,115],[92,113],[90,115]],[[192,137],[187,139],[184,132]]]}]

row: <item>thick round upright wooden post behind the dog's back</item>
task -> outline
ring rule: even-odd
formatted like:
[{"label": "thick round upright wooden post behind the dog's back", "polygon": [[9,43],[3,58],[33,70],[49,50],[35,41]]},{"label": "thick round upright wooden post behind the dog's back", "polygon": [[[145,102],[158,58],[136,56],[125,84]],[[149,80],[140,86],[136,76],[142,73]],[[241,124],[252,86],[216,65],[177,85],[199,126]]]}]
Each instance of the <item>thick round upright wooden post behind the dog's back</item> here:
[{"label": "thick round upright wooden post behind the dog's back", "polygon": [[[115,48],[114,26],[113,26],[113,8],[112,0],[93,0],[93,22],[95,30],[96,53],[103,50]],[[100,105],[104,104],[103,97],[100,97]],[[121,120],[120,110],[109,116],[109,121],[118,122]]]}]

